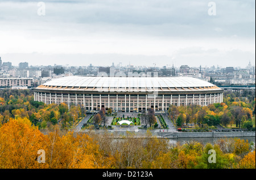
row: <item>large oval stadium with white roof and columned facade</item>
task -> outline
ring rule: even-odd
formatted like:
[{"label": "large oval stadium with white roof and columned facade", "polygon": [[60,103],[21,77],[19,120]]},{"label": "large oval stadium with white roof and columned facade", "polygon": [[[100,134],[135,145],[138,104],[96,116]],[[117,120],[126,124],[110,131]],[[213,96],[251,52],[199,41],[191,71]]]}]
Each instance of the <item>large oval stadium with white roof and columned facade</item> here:
[{"label": "large oval stadium with white roof and columned facade", "polygon": [[208,106],[223,101],[223,90],[192,77],[79,77],[52,79],[34,89],[34,100],[101,107],[116,112],[141,112],[148,108],[168,111],[170,105]]}]

